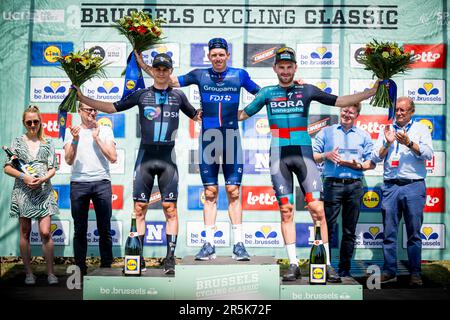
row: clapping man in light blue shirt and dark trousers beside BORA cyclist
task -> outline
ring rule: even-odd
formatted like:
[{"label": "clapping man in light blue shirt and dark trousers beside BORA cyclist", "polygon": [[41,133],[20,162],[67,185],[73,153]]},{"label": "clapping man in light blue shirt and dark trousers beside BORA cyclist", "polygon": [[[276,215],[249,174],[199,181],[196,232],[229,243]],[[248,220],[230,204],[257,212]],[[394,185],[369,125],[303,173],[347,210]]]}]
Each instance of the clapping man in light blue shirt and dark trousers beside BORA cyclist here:
[{"label": "clapping man in light blue shirt and dark trousers beside BORA cyclist", "polygon": [[322,129],[313,146],[314,160],[324,162],[323,197],[328,239],[333,235],[342,208],[340,277],[351,276],[356,225],[363,196],[363,170],[375,167],[370,161],[373,147],[370,135],[354,125],[360,111],[360,103],[342,108],[340,123]]}]

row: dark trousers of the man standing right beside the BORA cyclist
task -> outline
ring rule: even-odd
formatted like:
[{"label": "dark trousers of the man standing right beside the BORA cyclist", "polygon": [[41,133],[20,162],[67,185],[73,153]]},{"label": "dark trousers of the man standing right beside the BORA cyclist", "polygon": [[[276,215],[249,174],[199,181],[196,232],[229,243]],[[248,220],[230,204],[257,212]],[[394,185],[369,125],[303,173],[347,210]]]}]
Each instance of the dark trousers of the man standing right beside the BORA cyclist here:
[{"label": "dark trousers of the man standing right beside the BORA cyclist", "polygon": [[342,239],[339,257],[339,270],[350,270],[356,239],[356,224],[359,219],[362,181],[352,183],[330,181],[324,183],[325,216],[328,226],[328,239],[331,240],[336,221],[342,208]]}]

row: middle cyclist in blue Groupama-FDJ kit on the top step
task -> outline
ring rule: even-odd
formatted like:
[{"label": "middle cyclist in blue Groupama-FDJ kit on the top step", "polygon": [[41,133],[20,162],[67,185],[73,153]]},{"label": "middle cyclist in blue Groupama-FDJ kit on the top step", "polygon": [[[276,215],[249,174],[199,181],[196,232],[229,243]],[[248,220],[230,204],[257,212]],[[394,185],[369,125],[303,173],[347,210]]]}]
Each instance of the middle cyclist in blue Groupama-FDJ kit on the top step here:
[{"label": "middle cyclist in blue Groupama-FDJ kit on the top step", "polygon": [[[200,175],[205,188],[203,217],[206,242],[196,260],[215,258],[214,232],[219,195],[219,167],[225,177],[228,197],[228,213],[233,230],[233,258],[249,260],[242,237],[242,205],[239,187],[242,180],[243,157],[237,114],[241,88],[256,94],[259,86],[247,71],[227,66],[230,58],[225,39],[214,38],[208,42],[208,59],[212,68],[194,69],[186,75],[172,77],[172,86],[184,87],[195,84],[200,91],[202,106],[202,132],[200,135]],[[141,68],[152,76],[152,71],[137,54]],[[150,69],[150,70],[149,70]]]}]

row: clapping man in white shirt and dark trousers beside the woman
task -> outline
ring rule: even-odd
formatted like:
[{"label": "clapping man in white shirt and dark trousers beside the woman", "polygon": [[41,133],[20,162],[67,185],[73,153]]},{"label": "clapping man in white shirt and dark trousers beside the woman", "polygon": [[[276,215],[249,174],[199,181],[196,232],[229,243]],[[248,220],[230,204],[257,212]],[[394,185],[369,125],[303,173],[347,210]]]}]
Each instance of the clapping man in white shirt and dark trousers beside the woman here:
[{"label": "clapping man in white shirt and dark trousers beside the woman", "polygon": [[99,232],[100,267],[110,268],[113,260],[111,239],[112,188],[109,162],[117,161],[111,127],[98,125],[97,110],[80,103],[81,125],[70,127],[64,139],[67,164],[72,165],[70,204],[74,221],[75,264],[86,274],[87,227],[92,200]]}]

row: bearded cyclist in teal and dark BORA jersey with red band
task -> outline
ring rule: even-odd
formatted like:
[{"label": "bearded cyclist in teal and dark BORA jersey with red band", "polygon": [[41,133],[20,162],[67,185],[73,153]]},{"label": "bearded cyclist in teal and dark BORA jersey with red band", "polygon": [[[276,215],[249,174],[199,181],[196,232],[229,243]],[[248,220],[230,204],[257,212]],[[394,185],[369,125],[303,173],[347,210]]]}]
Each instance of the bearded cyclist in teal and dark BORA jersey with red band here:
[{"label": "bearded cyclist in teal and dark BORA jersey with red band", "polygon": [[328,231],[322,201],[322,181],[313,159],[311,138],[308,135],[308,113],[311,101],[346,107],[373,96],[376,85],[363,93],[337,97],[310,84],[294,84],[297,71],[295,51],[284,47],[277,51],[273,70],[278,76],[276,86],[268,86],[258,93],[255,100],[239,112],[239,120],[267,106],[267,117],[272,133],[270,147],[270,174],[272,185],[280,205],[281,231],[289,256],[289,269],[284,280],[300,277],[295,248],[295,224],[293,211],[293,174],[295,173],[305,195],[307,208],[315,222],[320,220],[322,239],[327,251],[327,278],[339,282],[337,273],[330,267]]}]

